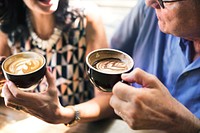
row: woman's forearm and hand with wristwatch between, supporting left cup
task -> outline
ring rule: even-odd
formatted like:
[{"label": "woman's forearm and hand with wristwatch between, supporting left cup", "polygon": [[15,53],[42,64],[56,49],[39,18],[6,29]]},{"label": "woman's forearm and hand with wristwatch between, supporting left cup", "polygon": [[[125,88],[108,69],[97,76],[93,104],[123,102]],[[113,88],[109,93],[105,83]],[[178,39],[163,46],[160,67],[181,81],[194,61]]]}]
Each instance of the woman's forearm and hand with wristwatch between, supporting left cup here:
[{"label": "woman's forearm and hand with wristwatch between, supporting left cup", "polygon": [[[48,88],[43,93],[23,92],[11,82],[4,84],[2,93],[4,95],[5,105],[8,107],[21,109],[48,123],[58,124],[73,121],[74,111],[71,107],[61,106],[58,99],[58,92],[55,85],[55,78],[50,70],[46,71]],[[107,117],[115,116],[109,100],[111,94],[102,93],[88,102],[76,105],[80,112],[81,120],[79,122],[95,121]]]}]

